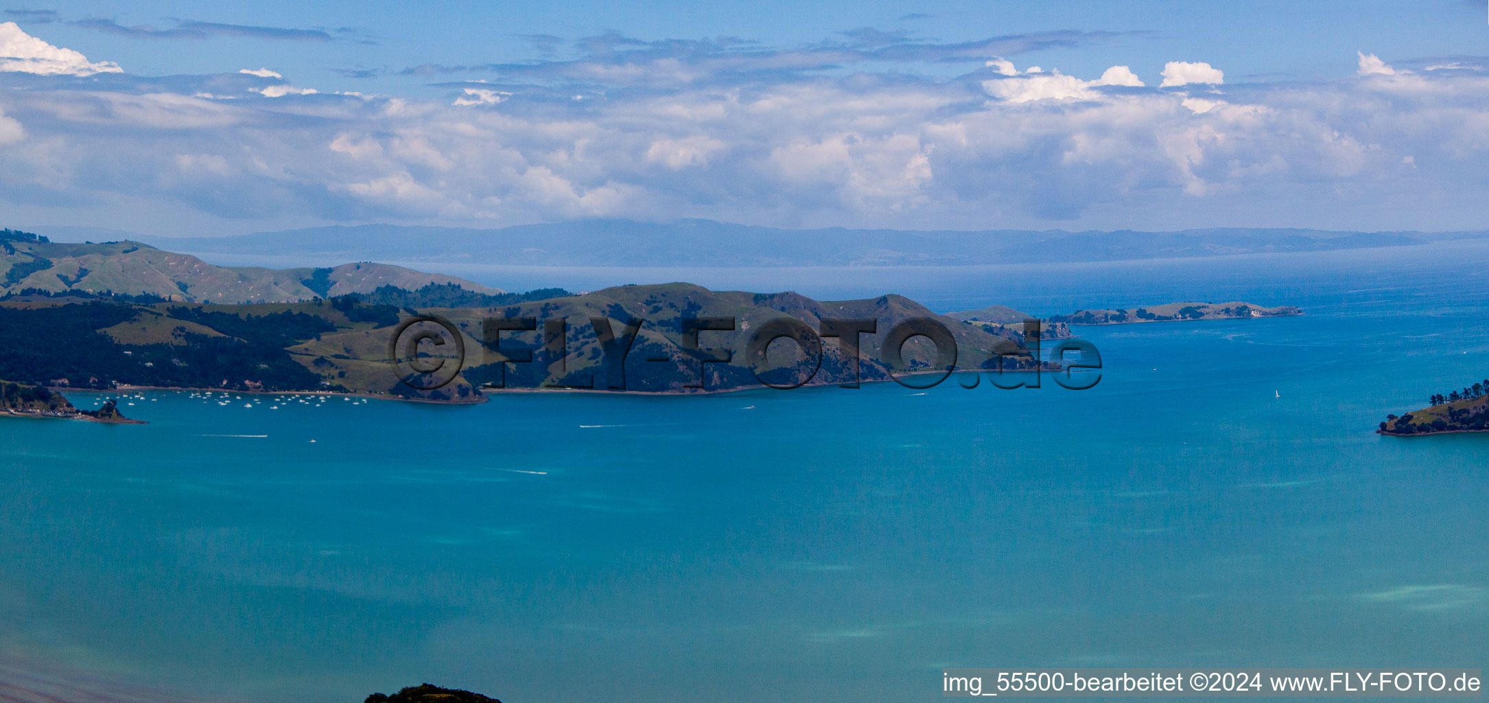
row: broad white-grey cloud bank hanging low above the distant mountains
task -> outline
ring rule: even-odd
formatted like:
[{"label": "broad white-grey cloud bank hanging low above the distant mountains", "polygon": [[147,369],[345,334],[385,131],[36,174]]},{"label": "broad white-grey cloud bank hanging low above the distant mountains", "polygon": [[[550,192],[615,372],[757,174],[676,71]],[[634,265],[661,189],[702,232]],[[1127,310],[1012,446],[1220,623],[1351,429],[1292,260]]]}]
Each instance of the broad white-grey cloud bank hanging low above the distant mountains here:
[{"label": "broad white-grey cloud bank hanging low above the distant mountains", "polygon": [[[79,79],[112,64],[49,55],[71,69],[0,91],[0,198],[307,223],[1482,226],[1489,76],[1470,58],[1406,71],[1361,52],[1358,74],[1275,83],[1172,61],[1152,86],[1126,64],[1078,76],[989,51],[1066,39],[602,36],[581,58],[427,69],[471,74],[436,100],[267,69]],[[980,58],[953,77],[841,69],[893,52]]]}]

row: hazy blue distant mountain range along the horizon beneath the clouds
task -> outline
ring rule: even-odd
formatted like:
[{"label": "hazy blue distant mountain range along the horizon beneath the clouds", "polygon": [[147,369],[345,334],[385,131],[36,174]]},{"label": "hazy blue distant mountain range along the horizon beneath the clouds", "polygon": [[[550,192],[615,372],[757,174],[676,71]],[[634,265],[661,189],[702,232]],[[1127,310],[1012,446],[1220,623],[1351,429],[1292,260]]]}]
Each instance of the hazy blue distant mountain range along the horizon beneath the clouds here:
[{"label": "hazy blue distant mountain range along the horizon beneath the clouds", "polygon": [[552,267],[853,267],[1088,262],[1423,244],[1476,232],[779,229],[713,220],[594,219],[502,229],[319,226],[237,237],[140,235],[191,253]]}]

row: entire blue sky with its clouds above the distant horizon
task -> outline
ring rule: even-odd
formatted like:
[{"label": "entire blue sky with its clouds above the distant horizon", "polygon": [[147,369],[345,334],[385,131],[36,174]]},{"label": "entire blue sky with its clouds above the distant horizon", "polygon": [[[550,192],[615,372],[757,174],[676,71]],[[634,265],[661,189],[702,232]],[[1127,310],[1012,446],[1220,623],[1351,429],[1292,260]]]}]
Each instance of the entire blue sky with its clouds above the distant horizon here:
[{"label": "entire blue sky with its clouds above the distant horizon", "polygon": [[6,226],[1489,228],[1485,0],[3,7]]}]

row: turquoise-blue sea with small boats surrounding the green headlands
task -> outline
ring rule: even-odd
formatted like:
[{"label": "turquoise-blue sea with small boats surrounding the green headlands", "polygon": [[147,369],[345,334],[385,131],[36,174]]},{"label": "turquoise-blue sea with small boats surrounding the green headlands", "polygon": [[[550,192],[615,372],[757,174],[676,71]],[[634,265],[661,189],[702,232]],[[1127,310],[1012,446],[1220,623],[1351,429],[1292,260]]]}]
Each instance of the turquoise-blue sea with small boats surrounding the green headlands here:
[{"label": "turquoise-blue sea with small boats surrounding the green headlands", "polygon": [[[1105,362],[1081,392],[155,392],[122,407],[144,426],[0,420],[0,682],[901,702],[938,699],[947,666],[1482,666],[1489,433],[1371,430],[1489,377],[1485,261],[691,276],[935,310],[1306,311],[1078,328]],[[503,287],[605,283],[526,276]]]}]

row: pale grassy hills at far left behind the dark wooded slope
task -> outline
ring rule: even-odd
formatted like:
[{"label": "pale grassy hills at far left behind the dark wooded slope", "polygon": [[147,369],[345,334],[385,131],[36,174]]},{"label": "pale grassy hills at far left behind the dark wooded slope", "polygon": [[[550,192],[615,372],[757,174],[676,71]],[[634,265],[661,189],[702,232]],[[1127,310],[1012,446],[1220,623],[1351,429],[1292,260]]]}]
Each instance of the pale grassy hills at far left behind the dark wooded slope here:
[{"label": "pale grassy hills at far left behind the dark wooded slope", "polygon": [[415,290],[429,284],[457,284],[481,295],[502,293],[453,276],[386,264],[286,270],[214,267],[197,256],[138,241],[64,244],[28,232],[0,231],[0,295],[107,292],[182,302],[292,302],[372,293],[383,286]]}]

